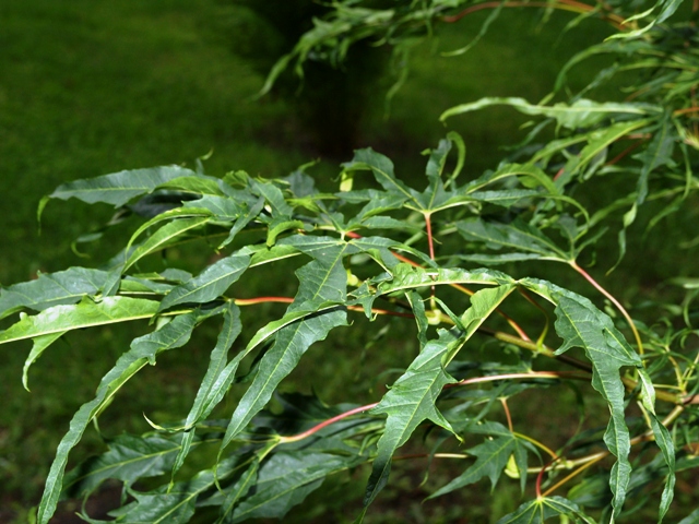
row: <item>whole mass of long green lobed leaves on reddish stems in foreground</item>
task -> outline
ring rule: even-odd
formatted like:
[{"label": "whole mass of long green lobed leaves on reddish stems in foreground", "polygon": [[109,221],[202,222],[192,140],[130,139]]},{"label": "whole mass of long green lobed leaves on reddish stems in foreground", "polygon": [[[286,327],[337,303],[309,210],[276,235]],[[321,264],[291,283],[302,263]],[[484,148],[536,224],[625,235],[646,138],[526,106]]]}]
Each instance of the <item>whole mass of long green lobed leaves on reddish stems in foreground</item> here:
[{"label": "whole mass of long green lobed leaves on reddish stems in foreground", "polygon": [[[404,25],[427,23],[464,3],[396,2],[402,7],[390,12],[398,17],[374,20],[357,2],[340,2],[337,19],[317,22],[313,31],[336,23],[342,13],[364,10],[367,17],[346,26],[347,32],[364,28],[356,33],[362,38],[380,31],[402,35]],[[584,15],[614,22],[623,2],[590,10],[580,2],[548,3],[574,3]],[[118,216],[135,213],[147,219],[100,269],[71,267],[1,289],[0,318],[20,313],[20,319],[0,332],[0,343],[33,341],[25,386],[31,366],[74,330],[143,319],[153,327],[133,340],[95,397],[73,416],[47,479],[38,522],[49,521],[61,497],[87,498],[106,479],[123,483],[122,508],[112,513],[117,522],[188,522],[199,508],[210,507],[220,508],[222,523],[282,517],[327,477],[363,466],[370,468],[364,516],[389,483],[399,448],[420,441],[417,436],[422,444],[414,445],[424,445],[422,456],[467,461],[430,498],[484,477],[495,486],[506,473],[519,479],[525,502],[503,523],[543,522],[553,515],[594,522],[590,513],[599,508],[599,519],[614,521],[630,511],[627,498],[638,509],[650,500],[644,490],[654,488],[661,489],[662,520],[676,473],[699,464],[694,402],[699,353],[690,343],[696,281],[680,282],[690,289],[682,305],[665,305],[676,318],[645,325],[631,319],[579,257],[592,251],[608,229],[618,233],[624,255],[626,230],[644,203],[667,202],[650,221],[651,228],[682,212],[699,187],[694,176],[699,142],[694,120],[699,112],[694,103],[696,29],[689,23],[666,23],[679,3],[657,2],[629,21],[644,25],[574,57],[569,67],[597,53],[618,59],[566,102],[485,98],[447,110],[442,119],[503,104],[541,119],[509,159],[481,176],[461,174],[465,144],[449,133],[426,152],[427,186],[422,190],[398,178],[391,160],[370,148],[343,164],[335,192],[320,192],[304,168],[285,178],[261,179],[244,171],[216,178],[170,166],[59,187],[49,198],[106,203]],[[313,45],[344,52],[343,46],[353,41],[330,31],[328,35]],[[284,60],[283,66],[291,58]],[[584,97],[629,70],[643,72],[630,87],[630,99]],[[564,81],[565,71],[558,87]],[[537,142],[550,127],[554,139]],[[631,147],[625,142],[629,139]],[[364,177],[367,172],[372,179]],[[606,182],[601,177],[611,175],[631,180],[628,190],[589,211],[595,202],[580,203],[585,191],[594,193]],[[217,253],[199,274],[173,267],[144,272],[153,255],[192,241],[204,241]],[[274,275],[292,261],[298,281],[294,297],[246,298],[247,272]],[[616,308],[615,318],[608,314],[612,309],[602,311],[570,286],[491,269],[531,261],[569,266],[572,276],[592,285],[590,298],[606,298]],[[518,323],[503,311],[518,296],[545,314],[525,326]],[[288,307],[239,341],[242,325],[254,319],[241,308],[269,301]],[[414,324],[418,354],[374,404],[347,398],[347,404],[327,406],[313,397],[277,393],[281,410],[271,410],[277,386],[304,365],[311,346],[322,350],[331,331],[358,329],[352,315],[389,315]],[[109,440],[106,453],[67,474],[70,451],[119,389],[146,365],[155,365],[162,353],[185,347],[203,322],[216,321],[218,338],[187,417],[154,424],[154,431],[143,436]],[[514,355],[514,361],[502,352],[477,355],[481,335]],[[394,325],[387,336],[400,340],[405,329]],[[572,356],[571,348],[581,352]],[[605,419],[606,430],[576,433],[556,450],[516,430],[508,405],[518,395],[580,381],[606,403],[608,413],[594,414]],[[234,384],[242,391],[233,413],[212,418]],[[662,405],[656,407],[656,400]],[[631,405],[639,417],[629,417]],[[464,442],[477,443],[464,450]],[[193,474],[183,467],[193,450],[211,446],[217,451],[205,467]],[[149,477],[156,484],[149,480],[146,488],[142,480]],[[554,495],[562,487],[569,488],[565,498]],[[695,512],[686,522],[696,517]]]}]

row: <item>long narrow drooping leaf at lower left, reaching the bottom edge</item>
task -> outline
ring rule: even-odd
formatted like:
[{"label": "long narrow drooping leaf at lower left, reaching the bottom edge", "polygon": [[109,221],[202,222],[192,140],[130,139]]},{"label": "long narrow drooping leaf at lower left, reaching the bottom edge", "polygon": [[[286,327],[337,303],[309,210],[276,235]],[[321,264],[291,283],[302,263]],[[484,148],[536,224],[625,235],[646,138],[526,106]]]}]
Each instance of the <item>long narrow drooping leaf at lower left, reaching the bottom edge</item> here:
[{"label": "long narrow drooping leaf at lower left, reaching the bottom edge", "polygon": [[[107,299],[105,299],[107,300]],[[123,299],[137,300],[137,299]],[[147,300],[147,302],[151,302]],[[155,302],[157,303],[157,302]],[[67,306],[58,306],[64,308]],[[56,504],[61,491],[63,473],[68,463],[68,454],[82,438],[92,419],[109,403],[119,389],[141,370],[146,364],[155,364],[159,353],[181,347],[189,341],[197,322],[196,313],[176,317],[161,330],[134,338],[131,348],[121,355],[114,368],[102,378],[95,398],[83,404],[73,415],[68,433],[61,439],[56,452],[56,458],[46,480],[44,495],[38,509],[38,523],[48,524],[56,511]]]}]

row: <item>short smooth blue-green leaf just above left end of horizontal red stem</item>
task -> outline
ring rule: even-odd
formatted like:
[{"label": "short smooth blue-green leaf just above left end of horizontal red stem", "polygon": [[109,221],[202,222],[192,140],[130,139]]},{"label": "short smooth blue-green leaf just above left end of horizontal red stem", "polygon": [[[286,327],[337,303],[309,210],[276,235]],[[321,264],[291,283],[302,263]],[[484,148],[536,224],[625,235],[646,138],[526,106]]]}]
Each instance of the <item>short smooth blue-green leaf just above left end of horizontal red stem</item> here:
[{"label": "short smooth blue-green leaf just above left end of horizontal red stem", "polygon": [[165,311],[178,303],[204,303],[220,297],[249,265],[250,254],[246,250],[214,262],[191,281],[180,284],[168,293],[161,302],[159,311]]}]

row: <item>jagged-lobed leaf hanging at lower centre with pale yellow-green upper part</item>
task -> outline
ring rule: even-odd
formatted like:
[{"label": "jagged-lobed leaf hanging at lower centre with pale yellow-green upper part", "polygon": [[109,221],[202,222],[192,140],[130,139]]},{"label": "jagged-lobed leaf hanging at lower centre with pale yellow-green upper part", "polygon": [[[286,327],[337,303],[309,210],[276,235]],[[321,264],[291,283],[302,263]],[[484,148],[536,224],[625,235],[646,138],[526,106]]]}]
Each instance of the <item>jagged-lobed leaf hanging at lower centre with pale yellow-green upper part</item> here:
[{"label": "jagged-lobed leaf hanging at lower centre with pale yellow-green upper part", "polygon": [[[460,319],[465,331],[458,327],[440,330],[439,338],[425,344],[405,373],[383,395],[379,405],[371,409],[372,415],[387,414],[388,418],[386,430],[378,442],[378,455],[367,485],[365,505],[370,504],[386,486],[393,453],[407,441],[423,420],[429,419],[453,431],[436,406],[442,388],[455,382],[445,371],[445,367],[512,289],[514,286],[509,284],[474,294],[471,297],[471,308]],[[414,312],[424,314],[424,309],[417,308]]]}]

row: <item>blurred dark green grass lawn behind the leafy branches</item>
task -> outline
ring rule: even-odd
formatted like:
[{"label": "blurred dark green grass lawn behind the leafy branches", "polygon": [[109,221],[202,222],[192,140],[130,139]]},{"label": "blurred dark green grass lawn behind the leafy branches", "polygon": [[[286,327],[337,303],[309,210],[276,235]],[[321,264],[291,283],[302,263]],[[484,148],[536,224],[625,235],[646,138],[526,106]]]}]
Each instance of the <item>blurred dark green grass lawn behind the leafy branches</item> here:
[{"label": "blurred dark green grass lawn behind the leafy branches", "polygon": [[[234,22],[236,13],[239,20],[251,20],[241,9],[214,0],[0,3],[2,285],[32,278],[37,271],[98,264],[123,241],[126,228],[118,228],[88,249],[92,261],[79,258],[70,242],[108,219],[110,210],[74,202],[51,202],[37,236],[36,205],[62,181],[163,164],[191,166],[211,151],[205,167],[217,176],[232,169],[279,176],[317,157],[293,100],[251,99],[263,78],[230,44],[250,43],[226,34],[240,29],[239,23],[214,23],[223,14]],[[415,49],[407,83],[393,99],[388,120],[382,97],[390,78],[380,81],[367,102],[370,110],[362,120],[358,141],[393,157],[399,174],[423,172],[419,151],[446,131],[437,120],[441,111],[486,95],[538,100],[549,92],[566,58],[607,31],[592,23],[584,33],[559,37],[566,16],[555,15],[540,27],[534,11],[506,13],[471,53],[441,58],[440,50],[469,41],[483,21],[481,14],[447,27],[436,48],[424,44]],[[576,74],[571,82],[581,85],[584,70]],[[523,122],[507,110],[449,122],[450,129],[463,133],[469,147],[466,176],[493,167],[501,154],[498,146],[517,142]],[[316,172],[330,183],[337,162],[321,160]],[[12,514],[22,522],[24,510],[37,502],[72,413],[90,398],[130,338],[129,333],[105,329],[57,345],[33,369],[32,393],[20,381],[29,346],[0,348],[0,522]],[[191,353],[164,359],[134,380],[100,419],[105,433],[146,430],[142,413],[156,419],[185,415],[210,343],[198,340]],[[390,366],[390,359],[383,364]],[[377,361],[377,368],[380,365]],[[322,370],[316,370],[316,380],[323,380]],[[363,380],[357,394],[375,381],[370,370]],[[92,431],[74,457],[98,449],[99,438]],[[413,513],[403,516],[422,522],[423,510],[411,508]]]}]

